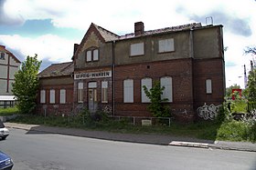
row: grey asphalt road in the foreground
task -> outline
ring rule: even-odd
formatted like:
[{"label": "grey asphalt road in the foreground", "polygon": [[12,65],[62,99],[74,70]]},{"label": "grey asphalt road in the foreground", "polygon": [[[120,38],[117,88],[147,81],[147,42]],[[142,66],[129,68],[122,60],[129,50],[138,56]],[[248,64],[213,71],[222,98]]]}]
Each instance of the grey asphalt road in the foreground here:
[{"label": "grey asphalt road in the foreground", "polygon": [[144,145],[10,129],[0,150],[14,170],[256,169],[256,153]]}]

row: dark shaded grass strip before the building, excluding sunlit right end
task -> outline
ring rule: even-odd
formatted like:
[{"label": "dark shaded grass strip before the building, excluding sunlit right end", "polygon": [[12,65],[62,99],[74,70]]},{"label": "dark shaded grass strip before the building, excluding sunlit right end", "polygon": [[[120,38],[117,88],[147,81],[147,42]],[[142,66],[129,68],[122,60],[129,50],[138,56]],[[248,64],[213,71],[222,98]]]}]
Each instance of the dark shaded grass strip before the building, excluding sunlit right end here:
[{"label": "dark shaded grass strip before the building, excluding sunlit right end", "polygon": [[114,133],[130,133],[130,134],[159,134],[159,135],[175,135],[187,136],[201,139],[215,140],[219,124],[213,122],[200,122],[196,124],[176,124],[155,125],[155,126],[141,126],[131,125],[125,121],[85,121],[80,116],[75,117],[61,117],[48,116],[43,117],[39,115],[22,115],[17,117],[12,122],[22,124],[36,124],[36,125],[51,125],[61,127],[74,127],[87,130],[108,131]]}]

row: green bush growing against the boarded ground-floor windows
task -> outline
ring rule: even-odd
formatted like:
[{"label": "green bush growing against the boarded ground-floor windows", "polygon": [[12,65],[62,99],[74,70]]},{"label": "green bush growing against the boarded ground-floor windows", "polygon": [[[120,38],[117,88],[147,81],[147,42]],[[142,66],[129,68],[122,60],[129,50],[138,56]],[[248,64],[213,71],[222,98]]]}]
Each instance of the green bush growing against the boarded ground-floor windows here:
[{"label": "green bush growing against the boarded ground-floor windows", "polygon": [[161,99],[165,86],[161,87],[160,82],[156,81],[151,89],[147,89],[145,85],[143,88],[145,95],[151,101],[150,105],[148,106],[149,111],[155,117],[170,117],[170,109],[162,105],[163,102],[168,101],[168,99]]}]

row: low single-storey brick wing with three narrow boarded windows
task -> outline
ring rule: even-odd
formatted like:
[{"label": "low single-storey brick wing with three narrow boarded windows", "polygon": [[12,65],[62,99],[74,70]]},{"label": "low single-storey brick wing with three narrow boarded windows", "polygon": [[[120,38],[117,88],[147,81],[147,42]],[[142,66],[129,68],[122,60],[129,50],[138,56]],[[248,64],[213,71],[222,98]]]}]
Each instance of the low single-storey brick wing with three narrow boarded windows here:
[{"label": "low single-storey brick wing with three narrow boarded windows", "polygon": [[69,62],[50,65],[38,74],[38,113],[59,115],[72,111],[73,71],[74,65]]}]

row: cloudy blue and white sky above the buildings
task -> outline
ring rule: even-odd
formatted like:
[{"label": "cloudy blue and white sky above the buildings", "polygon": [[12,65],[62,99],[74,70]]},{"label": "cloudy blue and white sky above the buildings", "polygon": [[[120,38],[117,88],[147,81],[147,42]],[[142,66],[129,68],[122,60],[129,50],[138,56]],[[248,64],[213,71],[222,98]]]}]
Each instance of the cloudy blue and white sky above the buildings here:
[{"label": "cloudy blue and white sky above the buildings", "polygon": [[23,62],[37,54],[40,70],[71,61],[91,23],[117,35],[144,30],[211,23],[223,25],[226,86],[244,88],[244,65],[251,69],[247,46],[256,45],[256,0],[0,0],[0,45]]}]

